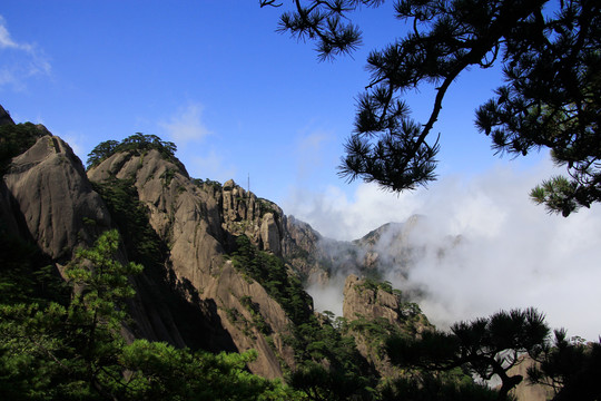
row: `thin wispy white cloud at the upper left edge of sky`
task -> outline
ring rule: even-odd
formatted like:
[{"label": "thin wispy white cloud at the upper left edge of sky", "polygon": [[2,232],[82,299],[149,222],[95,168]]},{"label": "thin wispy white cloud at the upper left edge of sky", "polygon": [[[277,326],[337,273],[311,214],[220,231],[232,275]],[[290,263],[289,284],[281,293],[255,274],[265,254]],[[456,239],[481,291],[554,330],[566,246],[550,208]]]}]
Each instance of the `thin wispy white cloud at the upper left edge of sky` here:
[{"label": "thin wispy white cloud at the upper left edge of sky", "polygon": [[35,76],[49,76],[48,57],[36,45],[12,39],[7,22],[0,16],[0,87],[12,86],[20,90],[26,80]]}]

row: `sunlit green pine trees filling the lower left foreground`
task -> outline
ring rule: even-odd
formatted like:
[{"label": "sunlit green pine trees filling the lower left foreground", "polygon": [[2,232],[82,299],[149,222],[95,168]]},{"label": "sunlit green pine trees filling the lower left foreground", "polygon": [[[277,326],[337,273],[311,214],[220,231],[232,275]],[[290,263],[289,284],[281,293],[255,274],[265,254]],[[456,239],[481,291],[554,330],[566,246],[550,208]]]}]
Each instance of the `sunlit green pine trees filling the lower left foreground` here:
[{"label": "sunlit green pine trees filling the lower left foreground", "polygon": [[67,306],[0,304],[0,398],[6,400],[298,400],[278,381],[248,373],[256,358],[175,349],[147,340],[126,344],[128,276],[116,260],[119,235],[104,233],[79,250],[66,274]]}]

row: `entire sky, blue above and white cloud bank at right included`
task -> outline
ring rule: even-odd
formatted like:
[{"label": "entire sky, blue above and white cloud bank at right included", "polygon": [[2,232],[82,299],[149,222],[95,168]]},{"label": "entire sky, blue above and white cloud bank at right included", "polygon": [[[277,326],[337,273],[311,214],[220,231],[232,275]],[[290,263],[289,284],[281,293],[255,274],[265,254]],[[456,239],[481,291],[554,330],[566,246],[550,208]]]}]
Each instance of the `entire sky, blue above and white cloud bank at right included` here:
[{"label": "entire sky, blue above and white cloud bank at right included", "polygon": [[[405,32],[391,6],[353,14],[363,46],[318,62],[313,43],[276,32],[283,9],[255,0],[4,0],[0,104],[17,123],[62,137],[83,163],[100,141],[158,135],[177,145],[190,176],[244,187],[249,178],[257,196],[328,237],[426,215],[418,241],[471,239],[453,261],[423,261],[410,277],[435,294],[424,305],[435,321],[533,305],[552,326],[594,340],[601,207],[549,215],[528,197],[560,173],[548,154],[493,155],[473,117],[501,84],[499,69],[469,71],[447,92],[434,127],[439,180],[427,189],[394,195],[337,177],[356,96],[370,82],[366,56]],[[417,120],[433,94],[407,94]]]}]

